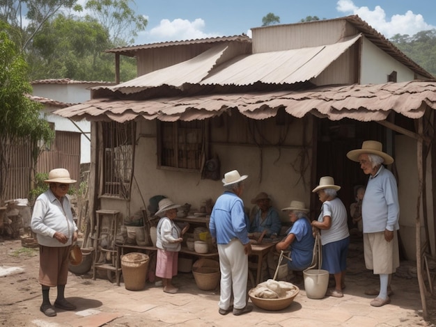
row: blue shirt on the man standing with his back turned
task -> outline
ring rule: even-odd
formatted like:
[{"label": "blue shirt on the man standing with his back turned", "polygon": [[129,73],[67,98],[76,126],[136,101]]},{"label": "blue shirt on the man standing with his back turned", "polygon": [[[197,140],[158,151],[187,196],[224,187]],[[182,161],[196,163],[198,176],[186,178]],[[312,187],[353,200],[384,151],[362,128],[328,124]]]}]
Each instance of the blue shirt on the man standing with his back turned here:
[{"label": "blue shirt on the man standing with his back turned", "polygon": [[248,244],[242,199],[229,191],[219,196],[210,214],[209,230],[217,244],[228,244],[232,239],[240,239],[242,244]]}]

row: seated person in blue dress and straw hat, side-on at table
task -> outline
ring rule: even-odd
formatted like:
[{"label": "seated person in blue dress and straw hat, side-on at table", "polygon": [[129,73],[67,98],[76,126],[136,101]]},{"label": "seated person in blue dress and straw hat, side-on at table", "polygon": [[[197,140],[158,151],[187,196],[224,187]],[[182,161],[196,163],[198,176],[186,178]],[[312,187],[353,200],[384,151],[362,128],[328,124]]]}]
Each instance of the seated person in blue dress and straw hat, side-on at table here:
[{"label": "seated person in blue dress and straw hat, side-on at table", "polygon": [[305,208],[304,202],[292,201],[289,207],[282,210],[288,212],[293,225],[286,232],[286,238],[276,244],[276,250],[290,250],[292,261],[288,260],[288,268],[292,271],[303,271],[312,263],[315,244],[311,223],[307,218],[309,209]]}]

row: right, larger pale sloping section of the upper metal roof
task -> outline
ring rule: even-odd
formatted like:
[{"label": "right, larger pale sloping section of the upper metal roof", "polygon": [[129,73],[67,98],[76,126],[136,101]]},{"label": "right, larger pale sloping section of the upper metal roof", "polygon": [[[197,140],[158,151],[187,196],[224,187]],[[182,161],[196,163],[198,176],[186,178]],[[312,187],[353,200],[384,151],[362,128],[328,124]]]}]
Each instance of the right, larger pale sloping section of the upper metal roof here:
[{"label": "right, larger pale sloping section of the upper metal roof", "polygon": [[249,86],[257,82],[293,84],[318,77],[325,68],[361,38],[361,34],[334,45],[250,54],[235,58],[219,72],[201,81],[202,85]]}]

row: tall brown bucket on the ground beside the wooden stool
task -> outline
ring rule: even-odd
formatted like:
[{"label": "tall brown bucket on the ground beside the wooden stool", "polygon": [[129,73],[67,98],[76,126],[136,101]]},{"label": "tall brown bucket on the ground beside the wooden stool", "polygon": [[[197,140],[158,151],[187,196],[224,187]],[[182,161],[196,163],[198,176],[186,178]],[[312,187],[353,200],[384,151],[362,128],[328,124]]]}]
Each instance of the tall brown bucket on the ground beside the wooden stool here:
[{"label": "tall brown bucket on the ground beside the wooden stool", "polygon": [[121,255],[121,271],[125,289],[130,291],[141,291],[146,287],[146,276],[150,258],[143,253],[127,253]]}]

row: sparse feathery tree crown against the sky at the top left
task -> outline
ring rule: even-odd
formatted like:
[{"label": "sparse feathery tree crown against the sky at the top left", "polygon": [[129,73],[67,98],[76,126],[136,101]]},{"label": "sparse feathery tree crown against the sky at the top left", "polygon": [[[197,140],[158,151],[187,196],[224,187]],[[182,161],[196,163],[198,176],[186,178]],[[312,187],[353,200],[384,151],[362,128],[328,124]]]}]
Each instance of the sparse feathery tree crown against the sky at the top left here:
[{"label": "sparse feathery tree crown against the sky at the top left", "polygon": [[130,3],[136,5],[133,0],[89,0],[85,6],[104,26],[116,47],[132,44],[137,32],[148,24],[146,17],[135,15]]}]

